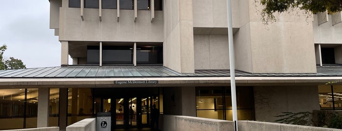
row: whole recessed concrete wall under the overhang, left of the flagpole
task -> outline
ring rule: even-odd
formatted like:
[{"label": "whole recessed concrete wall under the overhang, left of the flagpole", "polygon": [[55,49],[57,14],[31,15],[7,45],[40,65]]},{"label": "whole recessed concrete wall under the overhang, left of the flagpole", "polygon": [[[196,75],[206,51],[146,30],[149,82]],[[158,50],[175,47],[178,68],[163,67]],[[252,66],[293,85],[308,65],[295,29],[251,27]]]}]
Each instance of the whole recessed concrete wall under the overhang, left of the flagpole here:
[{"label": "whole recessed concrete wall under the overhang, left of the flagpole", "polygon": [[195,69],[229,69],[227,35],[194,35]]}]

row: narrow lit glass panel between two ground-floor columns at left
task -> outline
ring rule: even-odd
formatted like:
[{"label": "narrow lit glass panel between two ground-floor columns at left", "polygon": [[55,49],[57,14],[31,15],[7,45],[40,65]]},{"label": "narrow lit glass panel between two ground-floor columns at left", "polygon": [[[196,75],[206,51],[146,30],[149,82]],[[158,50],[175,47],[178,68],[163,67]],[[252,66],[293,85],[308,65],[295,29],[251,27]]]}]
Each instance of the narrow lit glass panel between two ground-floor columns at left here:
[{"label": "narrow lit glass panel between two ground-floor columns at left", "polygon": [[50,88],[49,98],[49,126],[58,127],[59,88]]}]

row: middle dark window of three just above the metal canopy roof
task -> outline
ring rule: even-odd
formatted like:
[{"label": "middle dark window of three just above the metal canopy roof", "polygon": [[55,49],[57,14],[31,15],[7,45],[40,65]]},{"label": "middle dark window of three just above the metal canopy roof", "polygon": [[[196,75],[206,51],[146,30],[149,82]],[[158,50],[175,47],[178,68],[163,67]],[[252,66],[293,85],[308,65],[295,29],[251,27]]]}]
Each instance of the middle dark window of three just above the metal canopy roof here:
[{"label": "middle dark window of three just above the metal canopy roof", "polygon": [[132,64],[132,46],[103,46],[103,64]]}]

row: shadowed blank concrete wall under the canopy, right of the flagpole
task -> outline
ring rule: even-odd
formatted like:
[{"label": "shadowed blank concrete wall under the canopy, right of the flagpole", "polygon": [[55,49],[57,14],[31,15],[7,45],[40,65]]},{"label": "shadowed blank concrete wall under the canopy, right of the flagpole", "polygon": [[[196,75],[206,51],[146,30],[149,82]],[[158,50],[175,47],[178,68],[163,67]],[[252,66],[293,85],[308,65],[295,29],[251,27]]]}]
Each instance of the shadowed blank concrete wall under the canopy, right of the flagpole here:
[{"label": "shadowed blank concrete wall under the canopy, right of the flagpole", "polygon": [[319,109],[317,86],[254,87],[255,119],[274,122],[281,112]]}]

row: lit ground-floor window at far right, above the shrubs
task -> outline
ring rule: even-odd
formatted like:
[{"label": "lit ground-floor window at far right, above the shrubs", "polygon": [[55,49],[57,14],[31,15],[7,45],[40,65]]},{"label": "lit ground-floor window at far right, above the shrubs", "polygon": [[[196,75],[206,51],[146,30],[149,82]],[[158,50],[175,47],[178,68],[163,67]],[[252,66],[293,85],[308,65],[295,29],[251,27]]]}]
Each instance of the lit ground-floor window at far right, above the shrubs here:
[{"label": "lit ground-floor window at far right, above the shrubs", "polygon": [[342,86],[319,86],[320,109],[342,109]]}]

